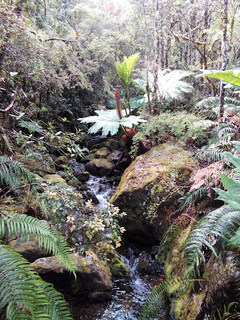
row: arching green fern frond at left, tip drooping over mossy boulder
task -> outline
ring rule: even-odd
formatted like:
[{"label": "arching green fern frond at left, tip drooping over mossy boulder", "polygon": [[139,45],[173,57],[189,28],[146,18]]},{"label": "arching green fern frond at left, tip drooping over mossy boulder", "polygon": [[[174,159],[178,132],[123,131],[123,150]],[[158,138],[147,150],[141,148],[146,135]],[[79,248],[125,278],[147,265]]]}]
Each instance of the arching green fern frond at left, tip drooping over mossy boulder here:
[{"label": "arching green fern frond at left, tip drooping over mossy boulder", "polygon": [[39,246],[43,246],[44,250],[55,255],[56,259],[66,266],[76,276],[76,264],[73,262],[69,247],[64,237],[54,228],[39,221],[38,219],[26,214],[5,213],[1,214],[0,235],[4,235],[8,231],[10,236],[21,234],[21,240],[31,236],[38,236]]}]

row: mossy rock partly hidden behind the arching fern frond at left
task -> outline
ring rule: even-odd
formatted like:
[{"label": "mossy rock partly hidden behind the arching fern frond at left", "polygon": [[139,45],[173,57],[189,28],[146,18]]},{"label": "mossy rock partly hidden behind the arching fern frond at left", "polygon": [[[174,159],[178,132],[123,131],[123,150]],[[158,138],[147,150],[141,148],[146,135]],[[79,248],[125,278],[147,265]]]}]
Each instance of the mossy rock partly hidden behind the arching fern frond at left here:
[{"label": "mossy rock partly hidden behind the arching fern frond at left", "polygon": [[8,242],[8,245],[17,253],[21,254],[23,258],[27,259],[29,262],[45,257],[49,255],[41,247],[39,247],[38,236],[32,237],[27,241],[20,241],[20,236]]}]

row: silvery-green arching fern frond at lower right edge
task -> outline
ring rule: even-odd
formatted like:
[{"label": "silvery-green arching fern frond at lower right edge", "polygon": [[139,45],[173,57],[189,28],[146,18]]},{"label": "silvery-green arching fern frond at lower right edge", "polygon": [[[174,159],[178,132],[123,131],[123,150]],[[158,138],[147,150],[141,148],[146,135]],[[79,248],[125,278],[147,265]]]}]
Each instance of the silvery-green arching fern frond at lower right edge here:
[{"label": "silvery-green arching fern frond at lower right edge", "polygon": [[184,244],[183,250],[189,265],[186,275],[194,273],[194,268],[198,267],[201,260],[205,262],[204,247],[217,257],[213,242],[218,238],[223,245],[227,244],[239,224],[240,211],[233,211],[228,205],[221,206],[200,219]]}]

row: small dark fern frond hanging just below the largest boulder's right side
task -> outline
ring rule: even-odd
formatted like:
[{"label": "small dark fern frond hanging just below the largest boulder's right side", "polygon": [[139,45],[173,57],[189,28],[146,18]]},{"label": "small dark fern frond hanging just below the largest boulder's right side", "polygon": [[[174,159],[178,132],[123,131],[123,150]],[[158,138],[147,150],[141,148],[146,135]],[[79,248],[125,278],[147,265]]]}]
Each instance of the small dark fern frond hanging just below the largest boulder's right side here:
[{"label": "small dark fern frond hanging just below the largest boulder's right side", "polygon": [[158,259],[159,262],[162,263],[169,251],[169,249],[173,245],[174,239],[180,235],[182,230],[182,226],[176,223],[172,223],[168,230],[163,235],[161,242],[159,244],[159,250],[158,250]]}]

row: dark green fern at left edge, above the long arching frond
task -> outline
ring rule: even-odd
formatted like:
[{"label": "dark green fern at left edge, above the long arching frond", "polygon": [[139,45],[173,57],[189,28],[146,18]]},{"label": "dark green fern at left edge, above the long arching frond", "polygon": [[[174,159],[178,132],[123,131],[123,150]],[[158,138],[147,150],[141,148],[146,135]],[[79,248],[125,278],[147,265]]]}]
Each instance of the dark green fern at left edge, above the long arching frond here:
[{"label": "dark green fern at left edge, above the long arching frond", "polygon": [[0,156],[0,184],[7,185],[15,193],[22,182],[35,182],[35,175],[27,170],[22,162],[5,155]]}]

